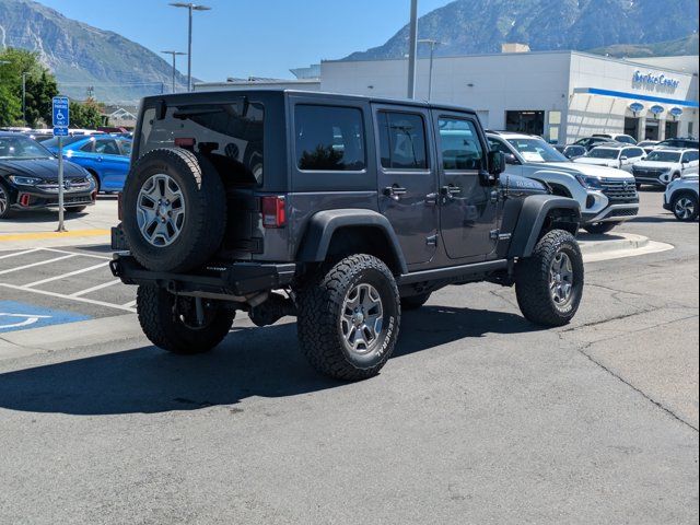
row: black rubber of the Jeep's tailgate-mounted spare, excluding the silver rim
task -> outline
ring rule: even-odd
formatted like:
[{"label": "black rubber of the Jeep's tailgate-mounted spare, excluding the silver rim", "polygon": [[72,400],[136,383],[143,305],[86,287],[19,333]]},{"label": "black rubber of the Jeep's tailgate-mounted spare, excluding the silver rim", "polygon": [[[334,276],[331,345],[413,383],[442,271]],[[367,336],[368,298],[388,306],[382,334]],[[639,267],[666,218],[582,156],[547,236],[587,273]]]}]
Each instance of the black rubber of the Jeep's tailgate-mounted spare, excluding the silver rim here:
[{"label": "black rubber of the Jeep's tailgate-mounted spare, excluding the silver rim", "polygon": [[[154,246],[137,218],[139,192],[156,174],[170,176],[185,201],[179,235],[167,246]],[[185,272],[200,267],[221,246],[226,228],[226,196],[221,177],[206,158],[182,148],[153,150],[129,173],[124,190],[124,234],[133,257],[149,270]]]}]

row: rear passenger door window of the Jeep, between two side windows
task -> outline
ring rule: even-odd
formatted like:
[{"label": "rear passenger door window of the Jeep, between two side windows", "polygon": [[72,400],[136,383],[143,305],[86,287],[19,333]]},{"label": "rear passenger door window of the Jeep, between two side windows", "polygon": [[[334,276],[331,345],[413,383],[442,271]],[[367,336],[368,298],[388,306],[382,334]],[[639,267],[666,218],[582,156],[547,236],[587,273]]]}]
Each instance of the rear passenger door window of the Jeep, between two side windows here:
[{"label": "rear passenger door window of the Jeep, between two side windows", "polygon": [[382,167],[427,170],[425,125],[420,115],[381,112],[380,150]]}]

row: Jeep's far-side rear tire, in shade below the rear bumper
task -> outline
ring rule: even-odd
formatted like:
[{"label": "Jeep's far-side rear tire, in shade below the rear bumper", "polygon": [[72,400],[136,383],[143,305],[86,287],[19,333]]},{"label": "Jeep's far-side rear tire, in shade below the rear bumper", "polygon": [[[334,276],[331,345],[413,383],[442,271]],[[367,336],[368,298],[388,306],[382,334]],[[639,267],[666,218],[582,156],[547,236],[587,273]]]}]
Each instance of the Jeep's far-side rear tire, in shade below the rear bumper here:
[{"label": "Jeep's far-side rear tire, in shade below the rear bumper", "polygon": [[180,355],[205,353],[217,347],[231,331],[235,313],[220,305],[210,305],[210,318],[201,328],[192,328],[175,315],[175,301],[194,301],[176,298],[156,287],[139,287],[137,312],[143,334],[159,348]]}]

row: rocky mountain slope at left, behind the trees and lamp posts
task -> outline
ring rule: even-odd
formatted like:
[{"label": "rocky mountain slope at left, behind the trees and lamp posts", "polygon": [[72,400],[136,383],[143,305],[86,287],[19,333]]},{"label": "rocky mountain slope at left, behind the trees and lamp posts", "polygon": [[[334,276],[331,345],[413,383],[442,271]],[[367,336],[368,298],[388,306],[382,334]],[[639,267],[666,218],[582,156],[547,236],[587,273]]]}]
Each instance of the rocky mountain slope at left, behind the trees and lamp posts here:
[{"label": "rocky mountain slope at left, behind the trees and lamp posts", "polygon": [[[89,2],[98,9],[100,2]],[[105,4],[106,7],[106,4]],[[32,0],[0,0],[0,48],[36,50],[58,80],[61,92],[83,100],[135,104],[150,94],[172,91],[172,65],[116,33],[67,19]],[[178,90],[187,78],[176,77]]]}]

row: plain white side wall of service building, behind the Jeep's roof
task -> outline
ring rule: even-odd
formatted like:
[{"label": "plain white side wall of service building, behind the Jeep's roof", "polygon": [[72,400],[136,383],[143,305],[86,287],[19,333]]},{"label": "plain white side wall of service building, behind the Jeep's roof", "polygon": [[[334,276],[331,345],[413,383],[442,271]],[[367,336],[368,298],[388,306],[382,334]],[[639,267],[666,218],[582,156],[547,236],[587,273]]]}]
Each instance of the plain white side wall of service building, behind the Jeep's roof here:
[{"label": "plain white side wall of service building, behind the Jeep's roof", "polygon": [[[564,112],[569,52],[528,52],[436,58],[433,102],[479,112],[492,129],[505,128],[505,112]],[[406,98],[408,60],[325,61],[322,91]],[[418,61],[416,97],[428,98],[430,61]],[[471,84],[471,85],[470,85]]]}]

